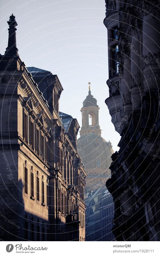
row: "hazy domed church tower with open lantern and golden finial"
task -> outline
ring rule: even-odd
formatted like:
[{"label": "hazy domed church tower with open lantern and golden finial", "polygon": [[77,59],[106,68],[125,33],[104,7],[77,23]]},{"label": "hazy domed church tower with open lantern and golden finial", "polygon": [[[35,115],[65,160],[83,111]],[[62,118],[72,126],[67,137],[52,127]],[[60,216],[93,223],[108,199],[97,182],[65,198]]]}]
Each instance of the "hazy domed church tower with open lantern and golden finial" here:
[{"label": "hazy domed church tower with open lantern and golden finial", "polygon": [[97,100],[91,94],[89,82],[89,92],[83,101],[82,127],[80,138],[77,140],[77,146],[86,167],[88,176],[86,178],[85,192],[95,190],[104,186],[107,179],[110,178],[109,166],[112,162],[112,145],[101,137],[99,126],[99,106]]}]

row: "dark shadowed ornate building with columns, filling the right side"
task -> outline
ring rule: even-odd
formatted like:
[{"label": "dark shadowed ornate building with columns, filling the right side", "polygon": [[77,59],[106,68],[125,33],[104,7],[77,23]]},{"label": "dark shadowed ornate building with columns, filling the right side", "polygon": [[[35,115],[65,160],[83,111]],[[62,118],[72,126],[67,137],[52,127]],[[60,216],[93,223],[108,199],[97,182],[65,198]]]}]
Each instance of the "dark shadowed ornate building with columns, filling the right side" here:
[{"label": "dark shadowed ornate building with columns, filling the right side", "polygon": [[121,135],[106,182],[115,201],[113,233],[118,241],[159,241],[160,1],[105,2],[106,104]]}]

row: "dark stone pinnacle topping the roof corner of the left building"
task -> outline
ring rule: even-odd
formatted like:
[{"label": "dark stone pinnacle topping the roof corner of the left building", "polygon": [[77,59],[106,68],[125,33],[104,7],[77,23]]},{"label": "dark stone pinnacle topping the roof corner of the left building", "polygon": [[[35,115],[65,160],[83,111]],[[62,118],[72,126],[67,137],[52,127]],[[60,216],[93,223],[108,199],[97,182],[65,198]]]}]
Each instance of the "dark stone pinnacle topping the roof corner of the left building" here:
[{"label": "dark stone pinnacle topping the roof corner of the left building", "polygon": [[10,16],[9,21],[7,21],[9,28],[8,28],[8,47],[6,48],[5,55],[7,56],[19,56],[18,55],[18,49],[16,47],[16,26],[18,25],[15,16],[12,15]]}]

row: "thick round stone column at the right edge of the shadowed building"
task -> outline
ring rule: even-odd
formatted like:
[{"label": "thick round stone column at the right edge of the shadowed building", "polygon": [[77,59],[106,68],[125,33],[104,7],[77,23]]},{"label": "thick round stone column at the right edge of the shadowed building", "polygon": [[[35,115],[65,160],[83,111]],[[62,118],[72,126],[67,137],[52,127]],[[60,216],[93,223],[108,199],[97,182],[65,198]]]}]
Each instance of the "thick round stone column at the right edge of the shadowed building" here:
[{"label": "thick round stone column at the right edge of the shadowed building", "polygon": [[144,90],[149,92],[158,90],[160,84],[160,21],[156,5],[143,9]]}]

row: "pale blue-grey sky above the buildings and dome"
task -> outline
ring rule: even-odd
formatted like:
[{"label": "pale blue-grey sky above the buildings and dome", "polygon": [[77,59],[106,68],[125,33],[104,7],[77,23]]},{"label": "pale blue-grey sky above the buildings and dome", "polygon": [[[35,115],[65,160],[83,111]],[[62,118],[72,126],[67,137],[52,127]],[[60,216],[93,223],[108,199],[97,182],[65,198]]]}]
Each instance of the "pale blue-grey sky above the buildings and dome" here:
[{"label": "pale blue-grey sky above the buildings and dome", "polygon": [[[105,99],[109,96],[104,0],[1,0],[0,53],[8,45],[9,16],[17,21],[17,48],[26,67],[57,74],[63,87],[59,110],[77,118],[88,95],[97,99],[101,136],[119,150],[120,140]],[[80,135],[78,134],[78,137]]]}]

